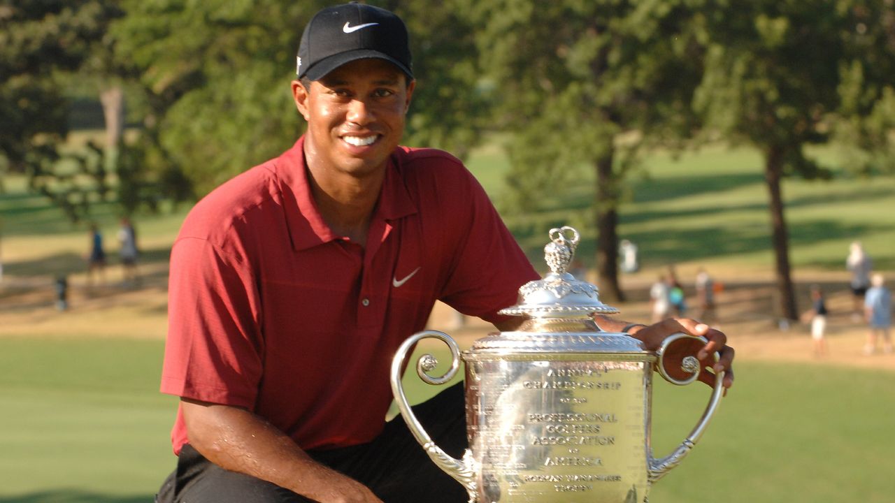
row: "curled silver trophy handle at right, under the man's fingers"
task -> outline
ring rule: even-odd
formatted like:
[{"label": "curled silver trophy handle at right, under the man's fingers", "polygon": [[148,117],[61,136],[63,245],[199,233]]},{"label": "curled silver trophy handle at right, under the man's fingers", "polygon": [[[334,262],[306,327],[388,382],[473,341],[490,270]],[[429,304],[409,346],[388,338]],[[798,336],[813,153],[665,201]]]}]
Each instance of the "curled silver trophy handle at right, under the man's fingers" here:
[{"label": "curled silver trophy handle at right, under the man's fingers", "polygon": [[[686,356],[679,362],[680,370],[673,367],[671,369],[667,368],[665,359],[666,350],[670,345],[678,341],[683,341],[684,344],[689,342],[690,344],[698,346],[705,345],[708,341],[705,337],[690,336],[686,334],[675,334],[662,341],[662,345],[657,352],[659,355],[659,361],[656,362],[657,370],[659,371],[659,374],[670,383],[684,386],[699,378],[699,372],[702,371],[702,366],[695,356]],[[718,361],[718,358],[719,355],[715,353],[714,360],[716,362]],[[684,374],[683,377],[681,377],[682,373]],[[669,454],[669,456],[661,457],[659,459],[652,457],[652,452],[649,453],[650,483],[658,481],[665,475],[665,473],[669,473],[672,468],[679,465],[681,460],[684,459],[684,456],[689,454],[690,449],[692,449],[696,445],[696,442],[703,436],[703,432],[705,431],[706,426],[708,426],[709,421],[712,419],[712,415],[718,410],[718,404],[720,403],[721,396],[723,396],[724,392],[724,387],[722,385],[723,380],[724,372],[717,372],[715,374],[715,385],[714,388],[712,388],[712,397],[709,399],[709,405],[705,407],[703,417],[699,419],[699,422],[696,423],[693,431],[690,431],[690,434],[687,435],[686,439],[681,442],[674,452]]]}]

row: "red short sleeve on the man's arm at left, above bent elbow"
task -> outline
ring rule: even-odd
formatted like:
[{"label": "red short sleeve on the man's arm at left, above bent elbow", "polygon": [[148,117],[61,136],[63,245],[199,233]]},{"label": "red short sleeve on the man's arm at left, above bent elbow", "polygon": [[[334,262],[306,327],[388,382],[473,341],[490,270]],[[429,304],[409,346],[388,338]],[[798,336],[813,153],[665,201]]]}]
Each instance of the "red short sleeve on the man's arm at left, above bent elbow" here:
[{"label": "red short sleeve on the man's arm at left, above bent elbow", "polygon": [[181,237],[171,252],[161,391],[253,408],[262,376],[260,299],[238,252]]}]

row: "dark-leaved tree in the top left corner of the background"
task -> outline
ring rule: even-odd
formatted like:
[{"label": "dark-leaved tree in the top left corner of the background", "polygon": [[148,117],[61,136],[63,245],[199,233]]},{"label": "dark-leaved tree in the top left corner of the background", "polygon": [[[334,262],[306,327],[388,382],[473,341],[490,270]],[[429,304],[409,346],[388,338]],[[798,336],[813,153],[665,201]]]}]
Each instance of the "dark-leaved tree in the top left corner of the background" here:
[{"label": "dark-leaved tree in the top left corner of the background", "polygon": [[0,166],[28,174],[31,187],[72,220],[107,185],[90,150],[60,149],[69,127],[67,80],[118,15],[111,1],[0,3]]}]

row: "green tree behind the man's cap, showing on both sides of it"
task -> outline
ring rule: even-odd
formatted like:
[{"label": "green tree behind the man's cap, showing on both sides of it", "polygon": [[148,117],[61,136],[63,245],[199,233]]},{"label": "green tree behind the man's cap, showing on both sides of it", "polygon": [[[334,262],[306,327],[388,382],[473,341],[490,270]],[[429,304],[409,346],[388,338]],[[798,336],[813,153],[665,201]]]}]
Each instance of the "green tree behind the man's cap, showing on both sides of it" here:
[{"label": "green tree behind the man's cap, showing on both sides of it", "polygon": [[[131,64],[144,95],[143,169],[180,175],[201,195],[285,150],[304,127],[289,90],[299,38],[311,15],[330,4],[125,2],[127,16],[113,29],[115,53],[119,64]],[[472,45],[468,30],[444,6],[371,4],[393,8],[411,31],[419,84],[406,140],[463,155],[477,138],[464,119],[483,108],[457,98],[469,92],[462,83],[468,70],[449,57]]]}]

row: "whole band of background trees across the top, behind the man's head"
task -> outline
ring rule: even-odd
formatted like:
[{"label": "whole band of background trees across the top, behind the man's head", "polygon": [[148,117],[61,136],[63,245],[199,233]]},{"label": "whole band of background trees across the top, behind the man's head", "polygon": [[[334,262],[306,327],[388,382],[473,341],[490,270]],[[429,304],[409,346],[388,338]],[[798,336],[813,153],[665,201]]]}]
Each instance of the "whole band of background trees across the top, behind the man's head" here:
[{"label": "whole band of background trees across the top, behind the man's head", "polygon": [[[781,181],[831,175],[805,147],[835,141],[853,172],[895,171],[892,0],[370,3],[410,31],[407,144],[463,158],[499,132],[522,211],[593,170],[583,230],[599,234],[609,298],[622,294],[618,209],[645,148],[720,138],[763,152],[788,318]],[[328,4],[0,0],[0,170],[28,173],[73,218],[113,186],[124,212],[208,192],[303,131],[289,82],[304,24]],[[63,148],[71,92],[90,86],[120,86],[138,123],[111,164],[100,146]]]}]

